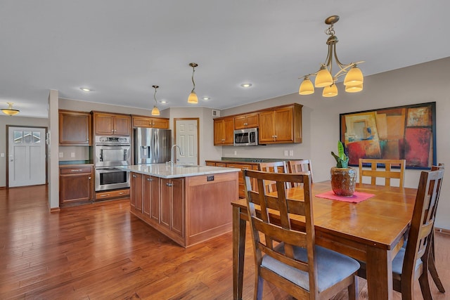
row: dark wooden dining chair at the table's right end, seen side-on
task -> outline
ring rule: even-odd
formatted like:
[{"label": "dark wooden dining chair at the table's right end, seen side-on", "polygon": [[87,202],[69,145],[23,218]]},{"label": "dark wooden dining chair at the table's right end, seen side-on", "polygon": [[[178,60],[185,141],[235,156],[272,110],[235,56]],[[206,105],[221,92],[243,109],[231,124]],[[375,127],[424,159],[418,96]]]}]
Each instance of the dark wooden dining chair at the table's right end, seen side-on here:
[{"label": "dark wooden dining chair at the table's right end, seen side-on", "polygon": [[[413,299],[413,287],[419,281],[423,299],[432,299],[428,282],[436,207],[442,187],[444,170],[422,171],[414,204],[406,247],[401,247],[392,260],[393,288],[401,299]],[[366,264],[361,263],[358,275],[366,278]]]}]

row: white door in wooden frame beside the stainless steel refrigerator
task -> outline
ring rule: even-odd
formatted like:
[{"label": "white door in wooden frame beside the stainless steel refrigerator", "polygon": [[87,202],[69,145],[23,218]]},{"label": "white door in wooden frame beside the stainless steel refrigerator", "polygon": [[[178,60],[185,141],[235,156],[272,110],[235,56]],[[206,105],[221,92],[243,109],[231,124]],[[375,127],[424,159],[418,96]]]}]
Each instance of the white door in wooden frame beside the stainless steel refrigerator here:
[{"label": "white door in wooden frame beside the stainless steel refrigerator", "polygon": [[183,155],[176,153],[178,164],[198,164],[198,119],[175,119],[175,143]]}]

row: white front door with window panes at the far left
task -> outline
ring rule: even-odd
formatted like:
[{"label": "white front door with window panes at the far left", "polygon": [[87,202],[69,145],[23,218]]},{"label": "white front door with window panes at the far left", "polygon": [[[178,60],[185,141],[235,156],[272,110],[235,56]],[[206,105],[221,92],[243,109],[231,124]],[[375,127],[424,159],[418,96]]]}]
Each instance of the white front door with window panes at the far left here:
[{"label": "white front door with window panes at the far left", "polygon": [[45,184],[44,128],[8,127],[8,186]]}]

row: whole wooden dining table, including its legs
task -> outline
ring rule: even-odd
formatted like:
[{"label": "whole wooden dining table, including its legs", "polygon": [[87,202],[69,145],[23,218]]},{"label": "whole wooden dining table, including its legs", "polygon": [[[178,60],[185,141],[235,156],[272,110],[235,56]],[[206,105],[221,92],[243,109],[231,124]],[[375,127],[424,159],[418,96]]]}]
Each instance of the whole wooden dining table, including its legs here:
[{"label": "whole wooden dining table, including its legs", "polygon": [[[356,183],[356,192],[371,197],[358,203],[347,202],[351,197],[344,201],[316,197],[330,191],[330,181],[311,185],[316,244],[365,261],[368,299],[392,299],[392,259],[406,239],[417,189]],[[287,197],[303,200],[302,186],[289,188]],[[234,200],[231,205],[233,299],[242,299],[248,210],[245,199]],[[291,222],[294,229],[304,228],[301,219]]]}]

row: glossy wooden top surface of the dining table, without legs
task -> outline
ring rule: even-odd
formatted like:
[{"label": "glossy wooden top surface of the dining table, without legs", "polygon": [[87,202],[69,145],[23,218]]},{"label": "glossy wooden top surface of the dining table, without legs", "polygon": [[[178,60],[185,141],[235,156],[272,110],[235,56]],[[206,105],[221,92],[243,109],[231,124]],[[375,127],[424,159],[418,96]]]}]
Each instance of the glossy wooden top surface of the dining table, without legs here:
[{"label": "glossy wooden top surface of the dining table, without legs", "polygon": [[[330,181],[312,184],[316,237],[330,234],[354,240],[359,244],[390,250],[409,228],[416,201],[416,188],[356,183],[356,191],[374,196],[359,203],[316,197],[330,190]],[[303,189],[290,188],[287,197],[302,200]],[[241,209],[247,207],[245,199],[233,201],[231,204]],[[302,221],[297,222],[301,226]]]}]

